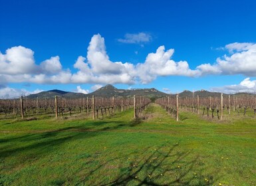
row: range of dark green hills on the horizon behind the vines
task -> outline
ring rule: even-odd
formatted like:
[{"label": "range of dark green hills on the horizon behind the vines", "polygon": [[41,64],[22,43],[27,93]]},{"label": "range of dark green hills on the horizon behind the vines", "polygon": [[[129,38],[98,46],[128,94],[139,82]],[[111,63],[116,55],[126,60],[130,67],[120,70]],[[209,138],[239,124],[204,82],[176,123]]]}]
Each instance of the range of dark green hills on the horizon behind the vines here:
[{"label": "range of dark green hills on the horizon behind the vines", "polygon": [[[193,96],[199,96],[199,97],[217,97],[220,96],[220,92],[209,92],[207,90],[198,90],[195,92],[191,92],[189,90],[184,90],[184,92],[181,92],[179,96],[182,97],[193,97]],[[166,94],[164,92],[161,92],[159,90],[156,90],[156,88],[138,88],[138,89],[118,89],[110,84],[103,86],[102,88],[98,88],[98,90],[91,92],[89,94],[82,94],[82,93],[76,93],[76,92],[65,92],[63,90],[49,90],[45,92],[40,92],[38,94],[31,94],[27,96],[27,98],[54,98],[55,96],[61,96],[65,98],[86,98],[86,97],[112,97],[112,96],[147,96],[148,98],[161,98],[165,96],[171,96],[174,97],[176,94]],[[223,94],[228,95],[228,94]],[[255,94],[247,94],[247,93],[237,93],[234,94],[236,96],[251,96]]]}]

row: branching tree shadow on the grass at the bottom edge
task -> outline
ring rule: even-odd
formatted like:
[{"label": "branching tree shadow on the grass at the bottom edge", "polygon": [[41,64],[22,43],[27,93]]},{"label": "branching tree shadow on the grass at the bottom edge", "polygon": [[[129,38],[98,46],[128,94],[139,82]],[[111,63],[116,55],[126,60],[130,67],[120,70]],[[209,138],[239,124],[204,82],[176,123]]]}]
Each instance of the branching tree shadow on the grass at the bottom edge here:
[{"label": "branching tree shadow on the grass at the bottom edge", "polygon": [[[127,161],[132,153],[110,159],[94,167],[83,175],[78,184],[82,185],[213,185],[219,179],[213,175],[203,175],[204,168],[198,167],[197,157],[190,159],[190,152],[181,152],[178,145],[170,147],[167,143],[152,150],[148,147],[138,154],[138,159],[123,165],[112,181],[100,181],[104,175],[97,175],[100,169],[109,164]],[[106,171],[107,172],[107,171]],[[196,172],[196,174],[195,174]],[[108,173],[106,173],[108,174]],[[91,179],[98,177],[93,183]],[[207,177],[207,180],[205,180]],[[103,179],[104,180],[104,179]],[[89,183],[88,183],[89,182]]]}]

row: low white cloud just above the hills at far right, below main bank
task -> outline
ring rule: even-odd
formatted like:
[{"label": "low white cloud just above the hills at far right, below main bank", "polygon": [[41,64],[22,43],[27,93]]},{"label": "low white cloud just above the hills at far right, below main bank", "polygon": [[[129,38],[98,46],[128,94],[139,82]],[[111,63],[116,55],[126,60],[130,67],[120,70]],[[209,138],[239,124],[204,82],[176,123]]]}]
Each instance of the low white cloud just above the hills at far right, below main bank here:
[{"label": "low white cloud just above the hills at far right, below main bank", "polygon": [[238,92],[256,93],[256,80],[250,80],[250,78],[245,78],[239,84],[214,87],[211,88],[213,92],[223,92],[226,94],[235,94]]}]

